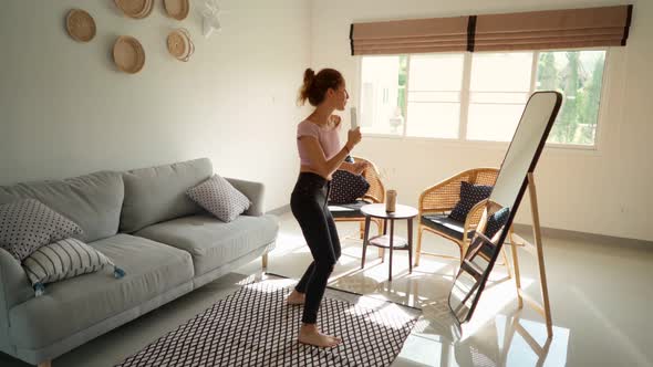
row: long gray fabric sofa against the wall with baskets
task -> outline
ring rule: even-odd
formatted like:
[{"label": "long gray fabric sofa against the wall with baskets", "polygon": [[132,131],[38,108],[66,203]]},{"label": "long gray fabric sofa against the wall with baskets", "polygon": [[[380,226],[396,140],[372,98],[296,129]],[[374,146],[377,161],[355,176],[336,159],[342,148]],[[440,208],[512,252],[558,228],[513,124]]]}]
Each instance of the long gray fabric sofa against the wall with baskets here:
[{"label": "long gray fabric sofa against the wall with baskets", "polygon": [[80,240],[126,272],[120,280],[97,272],[46,284],[45,294],[35,297],[20,262],[0,249],[0,350],[48,366],[258,256],[265,264],[279,226],[263,214],[262,184],[228,179],[252,205],[225,223],[185,195],[211,176],[211,164],[203,158],[0,187],[0,205],[40,200],[80,224]]}]

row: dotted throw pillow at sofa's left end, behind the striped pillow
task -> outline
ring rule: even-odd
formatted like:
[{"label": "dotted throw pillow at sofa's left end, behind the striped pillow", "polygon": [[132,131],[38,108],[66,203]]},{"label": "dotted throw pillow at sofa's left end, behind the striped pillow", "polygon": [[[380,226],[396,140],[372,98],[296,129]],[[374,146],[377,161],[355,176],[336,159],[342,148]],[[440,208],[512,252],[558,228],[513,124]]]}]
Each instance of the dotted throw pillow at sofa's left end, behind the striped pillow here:
[{"label": "dotted throw pillow at sofa's left end, behind the striped pillow", "polygon": [[75,222],[35,199],[0,206],[0,248],[23,261],[48,243],[82,234]]}]

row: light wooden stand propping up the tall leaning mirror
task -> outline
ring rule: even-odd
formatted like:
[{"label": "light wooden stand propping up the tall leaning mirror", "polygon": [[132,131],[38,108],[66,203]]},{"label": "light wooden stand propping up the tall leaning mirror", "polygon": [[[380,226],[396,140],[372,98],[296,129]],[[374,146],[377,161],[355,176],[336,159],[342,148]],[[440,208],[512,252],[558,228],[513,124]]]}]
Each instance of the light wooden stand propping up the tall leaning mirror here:
[{"label": "light wooden stand propping up the tall leaning mirror", "polygon": [[[545,317],[547,324],[547,334],[549,338],[553,336],[553,325],[551,322],[551,307],[549,304],[549,287],[547,286],[547,271],[545,268],[545,255],[542,250],[542,235],[540,231],[540,218],[538,213],[538,200],[535,189],[535,178],[532,172],[528,172],[528,196],[530,198],[530,212],[532,216],[532,232],[535,244],[526,241],[512,231],[510,228],[508,235],[510,238],[510,245],[512,248],[512,262],[515,271],[515,284],[517,285],[517,296],[519,300],[519,308],[524,307],[524,301],[535,308],[542,317]],[[537,259],[539,275],[540,275],[540,290],[542,291],[542,304],[535,301],[521,289],[521,279],[519,276],[519,261],[517,260],[517,248],[522,248],[528,253]]]}]

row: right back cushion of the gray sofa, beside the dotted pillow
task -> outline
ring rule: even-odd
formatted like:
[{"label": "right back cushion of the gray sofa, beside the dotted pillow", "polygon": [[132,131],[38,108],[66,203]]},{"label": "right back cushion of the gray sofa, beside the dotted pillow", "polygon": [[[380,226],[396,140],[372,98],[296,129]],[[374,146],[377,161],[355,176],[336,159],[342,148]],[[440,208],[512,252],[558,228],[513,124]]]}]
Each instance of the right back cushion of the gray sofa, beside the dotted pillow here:
[{"label": "right back cushion of the gray sofa, beside the dotted pillow", "polygon": [[203,212],[186,190],[211,176],[207,158],[124,172],[121,232],[132,233],[149,224]]}]

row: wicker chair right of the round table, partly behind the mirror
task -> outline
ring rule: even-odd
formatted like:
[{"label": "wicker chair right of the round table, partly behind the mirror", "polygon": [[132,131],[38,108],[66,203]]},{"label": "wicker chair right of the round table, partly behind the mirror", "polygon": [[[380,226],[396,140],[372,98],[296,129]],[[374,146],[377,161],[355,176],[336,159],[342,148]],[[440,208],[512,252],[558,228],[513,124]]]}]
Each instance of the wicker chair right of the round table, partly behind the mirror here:
[{"label": "wicker chair right of the round table, partly behind the mirror", "polygon": [[454,256],[422,252],[422,235],[424,231],[435,233],[458,245],[460,260],[464,258],[474,230],[478,226],[484,212],[486,200],[471,208],[465,222],[448,218],[447,213],[454,209],[460,199],[460,182],[467,181],[473,185],[494,186],[499,170],[496,168],[475,168],[455,175],[437,185],[434,185],[419,196],[419,224],[417,227],[417,249],[415,254],[415,266],[419,265],[422,254],[456,259]]}]

